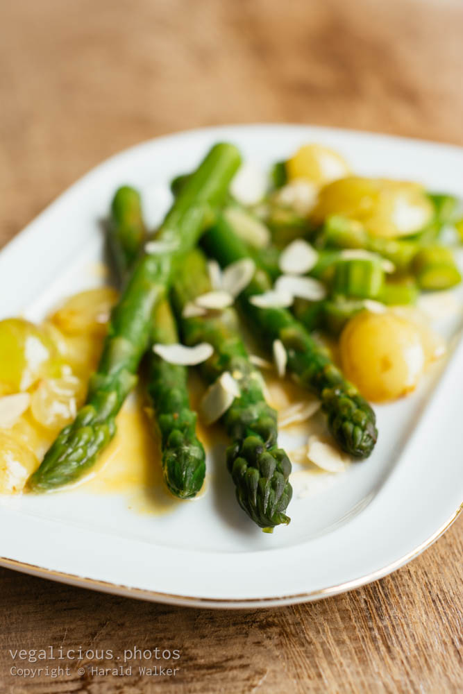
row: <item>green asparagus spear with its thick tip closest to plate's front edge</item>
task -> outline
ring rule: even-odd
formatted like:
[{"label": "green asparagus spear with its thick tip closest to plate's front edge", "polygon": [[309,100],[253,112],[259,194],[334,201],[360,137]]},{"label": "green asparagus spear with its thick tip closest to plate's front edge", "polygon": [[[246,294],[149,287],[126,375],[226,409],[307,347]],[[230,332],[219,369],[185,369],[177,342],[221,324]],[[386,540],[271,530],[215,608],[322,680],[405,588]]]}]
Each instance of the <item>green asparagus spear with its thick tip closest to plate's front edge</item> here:
[{"label": "green asparagus spear with its thick tip closest to plate's front edge", "polygon": [[227,466],[236,486],[239,505],[264,530],[289,523],[285,510],[292,496],[288,482],[291,463],[277,447],[276,412],[262,393],[262,376],[249,361],[239,337],[233,308],[205,316],[185,318],[185,305],[210,291],[205,257],[199,250],[182,262],[182,272],[173,282],[174,306],[187,345],[208,342],[214,354],[201,366],[208,382],[228,371],[239,384],[240,396],[222,417],[233,440],[227,449]]}]

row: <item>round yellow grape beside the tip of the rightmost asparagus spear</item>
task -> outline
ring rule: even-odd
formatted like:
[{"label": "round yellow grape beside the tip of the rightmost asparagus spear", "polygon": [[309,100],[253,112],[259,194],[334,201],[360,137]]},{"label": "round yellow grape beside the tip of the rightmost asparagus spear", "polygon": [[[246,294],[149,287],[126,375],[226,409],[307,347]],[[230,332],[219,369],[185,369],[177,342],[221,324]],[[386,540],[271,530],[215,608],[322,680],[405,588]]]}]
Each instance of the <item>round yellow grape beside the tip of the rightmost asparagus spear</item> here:
[{"label": "round yellow grape beside the tip of the rightmost asparagus spear", "polygon": [[346,378],[377,403],[412,391],[426,365],[419,329],[392,312],[354,316],[342,332],[340,348]]}]

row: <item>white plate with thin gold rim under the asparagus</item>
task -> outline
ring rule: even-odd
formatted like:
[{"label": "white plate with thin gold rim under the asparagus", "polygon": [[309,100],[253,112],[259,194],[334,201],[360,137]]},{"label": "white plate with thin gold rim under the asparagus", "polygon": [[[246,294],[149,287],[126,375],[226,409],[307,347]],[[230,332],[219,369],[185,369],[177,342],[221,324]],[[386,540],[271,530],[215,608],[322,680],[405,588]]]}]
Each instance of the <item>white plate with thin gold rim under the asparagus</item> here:
[{"label": "white plate with thin gold rim under the asparagus", "polygon": [[[463,196],[462,149],[447,145],[272,125],[162,137],[91,171],[3,250],[0,317],[41,319],[60,298],[98,283],[99,220],[115,188],[139,187],[154,223],[169,205],[169,180],[192,169],[217,140],[235,142],[262,167],[300,144],[321,142],[362,174],[412,178]],[[444,327],[455,334],[459,328],[455,320]],[[100,498],[79,489],[3,496],[0,561],[102,591],[207,607],[267,607],[360,586],[405,564],[457,516],[462,383],[460,343],[439,379],[435,370],[410,398],[376,408],[380,437],[373,455],[319,493],[295,498],[292,523],[272,535],[237,507],[219,456],[210,462],[208,492],[166,516],[138,514],[124,496]],[[291,441],[283,437],[282,443]]]}]

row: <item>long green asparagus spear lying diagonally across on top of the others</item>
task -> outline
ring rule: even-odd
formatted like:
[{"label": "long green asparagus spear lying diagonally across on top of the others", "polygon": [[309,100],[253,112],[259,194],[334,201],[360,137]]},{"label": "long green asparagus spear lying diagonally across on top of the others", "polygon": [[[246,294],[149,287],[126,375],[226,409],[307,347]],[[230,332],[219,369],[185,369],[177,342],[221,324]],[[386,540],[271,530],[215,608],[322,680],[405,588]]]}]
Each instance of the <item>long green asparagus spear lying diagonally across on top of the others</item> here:
[{"label": "long green asparagus spear lying diagonally across on top of the others", "polygon": [[153,310],[165,294],[172,261],[196,244],[211,210],[224,201],[239,163],[233,145],[215,145],[178,194],[158,234],[171,251],[145,253],[135,263],[112,311],[86,403],[74,422],[58,434],[30,478],[33,491],[47,491],[77,480],[114,436],[115,416],[135,385],[135,373],[151,337]]}]

